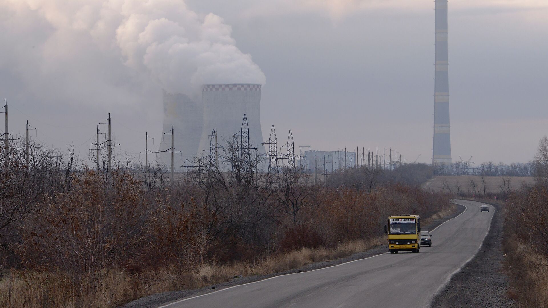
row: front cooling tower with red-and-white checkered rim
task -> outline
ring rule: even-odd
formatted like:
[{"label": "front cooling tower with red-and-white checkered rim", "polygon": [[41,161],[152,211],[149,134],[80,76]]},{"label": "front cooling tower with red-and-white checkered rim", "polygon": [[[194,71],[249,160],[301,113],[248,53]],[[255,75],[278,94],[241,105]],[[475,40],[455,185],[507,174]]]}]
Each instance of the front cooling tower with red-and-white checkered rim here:
[{"label": "front cooling tower with red-and-white checkered rim", "polygon": [[202,87],[203,132],[200,138],[198,156],[209,150],[209,137],[217,129],[219,145],[232,140],[242,128],[243,115],[247,115],[249,143],[258,149],[258,155],[265,152],[262,145],[260,105],[260,84],[206,84]]}]

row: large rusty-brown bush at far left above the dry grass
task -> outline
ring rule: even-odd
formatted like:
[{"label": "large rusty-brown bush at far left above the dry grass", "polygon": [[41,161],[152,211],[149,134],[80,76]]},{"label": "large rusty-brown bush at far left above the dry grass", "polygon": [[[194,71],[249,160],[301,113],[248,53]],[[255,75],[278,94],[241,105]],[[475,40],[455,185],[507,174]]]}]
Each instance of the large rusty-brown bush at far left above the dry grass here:
[{"label": "large rusty-brown bush at far left above the dry grass", "polygon": [[62,270],[74,282],[86,281],[138,252],[144,213],[138,181],[115,176],[106,190],[104,179],[88,171],[25,221],[17,251],[28,268]]}]

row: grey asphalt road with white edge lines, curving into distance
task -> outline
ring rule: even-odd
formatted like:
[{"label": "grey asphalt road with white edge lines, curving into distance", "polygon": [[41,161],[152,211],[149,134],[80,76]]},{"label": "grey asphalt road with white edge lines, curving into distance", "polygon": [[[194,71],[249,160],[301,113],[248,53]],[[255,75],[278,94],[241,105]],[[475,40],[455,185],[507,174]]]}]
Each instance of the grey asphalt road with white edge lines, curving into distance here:
[{"label": "grey asphalt road with white edge lines, curving into distance", "polygon": [[[420,253],[380,254],[309,272],[276,276],[175,301],[162,307],[427,307],[477,253],[494,208],[456,201],[465,212],[431,231]],[[430,230],[425,230],[430,231]]]}]

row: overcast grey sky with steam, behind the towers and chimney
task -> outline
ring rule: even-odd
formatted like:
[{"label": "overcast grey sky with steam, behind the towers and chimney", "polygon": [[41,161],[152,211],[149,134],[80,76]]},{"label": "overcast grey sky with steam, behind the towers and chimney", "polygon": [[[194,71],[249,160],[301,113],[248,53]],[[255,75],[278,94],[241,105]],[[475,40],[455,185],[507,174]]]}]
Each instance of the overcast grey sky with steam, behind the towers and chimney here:
[{"label": "overcast grey sky with steam, behind the towers and chimney", "polygon": [[[10,132],[28,119],[33,140],[86,156],[110,112],[121,153],[144,159],[145,132],[152,148],[161,140],[162,88],[236,72],[265,83],[265,138],[274,124],[279,140],[292,129],[316,150],[386,147],[431,162],[432,1],[139,3],[0,0]],[[449,2],[453,161],[533,158],[548,128],[547,14],[544,0]],[[158,22],[136,31],[144,19]],[[174,42],[189,48],[163,48]]]}]

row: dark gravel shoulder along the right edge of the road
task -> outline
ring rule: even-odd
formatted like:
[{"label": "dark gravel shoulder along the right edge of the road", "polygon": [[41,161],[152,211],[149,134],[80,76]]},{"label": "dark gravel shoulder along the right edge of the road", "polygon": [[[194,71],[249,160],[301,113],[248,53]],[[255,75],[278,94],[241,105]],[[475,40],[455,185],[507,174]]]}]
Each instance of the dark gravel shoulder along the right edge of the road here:
[{"label": "dark gravel shoulder along the right edge of the road", "polygon": [[495,214],[478,253],[433,298],[431,308],[516,307],[514,301],[506,297],[509,278],[503,265],[503,208],[491,205],[496,209]]}]

